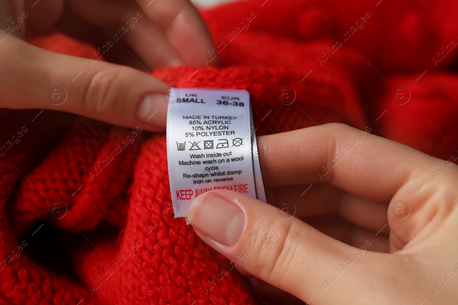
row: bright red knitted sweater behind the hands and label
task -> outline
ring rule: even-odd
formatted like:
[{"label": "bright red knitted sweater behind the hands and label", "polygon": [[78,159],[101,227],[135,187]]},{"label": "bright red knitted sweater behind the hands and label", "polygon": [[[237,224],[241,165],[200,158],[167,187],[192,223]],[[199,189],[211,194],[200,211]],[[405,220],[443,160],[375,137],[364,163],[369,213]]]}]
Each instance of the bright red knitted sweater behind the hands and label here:
[{"label": "bright red knitted sweater behind the hands and label", "polygon": [[[457,51],[447,48],[458,4],[425,2],[440,20],[410,0],[403,10],[224,5],[202,14],[216,46],[202,64],[218,53],[224,68],[153,75],[249,90],[258,135],[340,122],[448,160],[458,155]],[[96,50],[59,32],[29,41],[87,58]],[[258,303],[229,261],[174,219],[164,134],[38,112],[0,109],[0,304]]]}]

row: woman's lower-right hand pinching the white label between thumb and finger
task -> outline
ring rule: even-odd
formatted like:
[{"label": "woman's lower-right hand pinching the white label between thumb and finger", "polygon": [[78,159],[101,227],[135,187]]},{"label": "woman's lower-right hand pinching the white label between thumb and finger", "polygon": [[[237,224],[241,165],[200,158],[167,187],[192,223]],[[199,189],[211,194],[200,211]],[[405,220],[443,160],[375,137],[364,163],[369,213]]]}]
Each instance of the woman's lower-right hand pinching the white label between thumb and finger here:
[{"label": "woman's lower-right hand pinching the white label between thumb and finger", "polygon": [[220,190],[188,214],[226,272],[311,305],[458,303],[456,157],[335,123],[258,141],[267,198],[283,210]]}]

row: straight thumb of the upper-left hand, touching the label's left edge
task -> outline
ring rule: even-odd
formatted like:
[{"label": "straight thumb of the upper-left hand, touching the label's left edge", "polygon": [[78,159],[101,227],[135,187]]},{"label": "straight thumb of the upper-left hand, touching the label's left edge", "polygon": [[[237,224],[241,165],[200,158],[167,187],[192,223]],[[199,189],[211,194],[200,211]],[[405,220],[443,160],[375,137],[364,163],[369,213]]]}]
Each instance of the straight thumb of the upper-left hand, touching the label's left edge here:
[{"label": "straight thumb of the upper-left hand, touching the label's left edge", "polygon": [[153,75],[50,52],[13,35],[0,43],[0,54],[0,107],[52,109],[165,130],[168,86]]}]

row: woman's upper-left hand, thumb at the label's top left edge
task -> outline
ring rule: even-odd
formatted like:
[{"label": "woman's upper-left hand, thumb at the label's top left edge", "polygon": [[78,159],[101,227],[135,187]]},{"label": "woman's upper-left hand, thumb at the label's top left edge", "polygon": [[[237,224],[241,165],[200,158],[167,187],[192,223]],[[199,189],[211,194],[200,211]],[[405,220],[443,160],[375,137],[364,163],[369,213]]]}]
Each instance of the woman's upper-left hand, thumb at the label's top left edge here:
[{"label": "woman's upper-left hand, thumb at the label's top left edge", "polygon": [[[24,40],[26,30],[37,33],[53,25],[82,37],[92,37],[97,27],[111,35],[91,59],[56,54]],[[143,62],[143,71],[98,60],[114,52],[115,44],[128,44],[135,52],[125,52],[125,61]],[[167,85],[147,70],[204,65],[212,48],[189,0],[0,0],[0,107],[75,112],[164,131]]]}]

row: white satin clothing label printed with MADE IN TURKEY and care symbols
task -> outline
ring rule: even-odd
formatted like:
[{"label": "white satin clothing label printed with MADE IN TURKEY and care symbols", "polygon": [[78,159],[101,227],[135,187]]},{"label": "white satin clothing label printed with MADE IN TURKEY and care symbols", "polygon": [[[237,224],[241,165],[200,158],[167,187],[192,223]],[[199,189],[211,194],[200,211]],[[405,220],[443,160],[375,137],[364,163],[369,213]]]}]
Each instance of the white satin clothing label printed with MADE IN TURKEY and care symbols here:
[{"label": "white satin clothing label printed with MADE IN TURKEY and care symbols", "polygon": [[167,161],[175,217],[202,193],[228,189],[267,202],[246,90],[169,90]]}]

